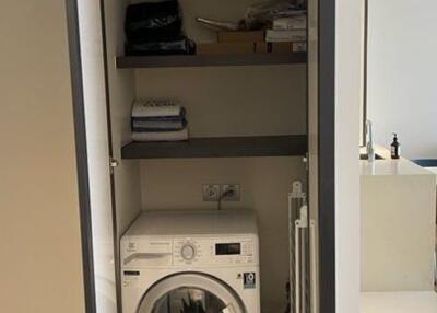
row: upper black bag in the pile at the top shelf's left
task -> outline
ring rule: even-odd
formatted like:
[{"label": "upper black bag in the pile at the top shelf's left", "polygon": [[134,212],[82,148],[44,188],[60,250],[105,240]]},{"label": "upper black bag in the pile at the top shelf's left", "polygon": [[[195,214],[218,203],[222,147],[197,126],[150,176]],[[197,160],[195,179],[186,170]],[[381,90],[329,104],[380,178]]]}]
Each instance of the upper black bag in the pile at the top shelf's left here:
[{"label": "upper black bag in the pile at the top shelf's left", "polygon": [[181,34],[177,0],[145,2],[127,8],[125,32],[129,44],[174,40]]}]

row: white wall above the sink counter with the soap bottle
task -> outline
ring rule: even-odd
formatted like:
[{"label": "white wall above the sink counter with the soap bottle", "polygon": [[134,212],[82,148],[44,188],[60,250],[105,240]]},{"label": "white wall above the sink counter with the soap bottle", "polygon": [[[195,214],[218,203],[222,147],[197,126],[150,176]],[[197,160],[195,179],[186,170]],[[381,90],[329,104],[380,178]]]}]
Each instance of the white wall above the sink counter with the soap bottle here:
[{"label": "white wall above the sink counter with the soap bottle", "polygon": [[369,0],[368,117],[376,142],[437,159],[437,2]]}]

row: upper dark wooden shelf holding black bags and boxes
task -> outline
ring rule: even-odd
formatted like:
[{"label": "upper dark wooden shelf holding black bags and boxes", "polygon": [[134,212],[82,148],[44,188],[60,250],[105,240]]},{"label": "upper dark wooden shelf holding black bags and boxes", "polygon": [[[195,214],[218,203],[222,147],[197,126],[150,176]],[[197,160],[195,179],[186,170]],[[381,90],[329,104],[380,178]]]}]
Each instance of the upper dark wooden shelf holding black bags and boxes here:
[{"label": "upper dark wooden shelf holding black bags and boxes", "polygon": [[117,57],[117,68],[184,68],[306,63],[306,53]]}]

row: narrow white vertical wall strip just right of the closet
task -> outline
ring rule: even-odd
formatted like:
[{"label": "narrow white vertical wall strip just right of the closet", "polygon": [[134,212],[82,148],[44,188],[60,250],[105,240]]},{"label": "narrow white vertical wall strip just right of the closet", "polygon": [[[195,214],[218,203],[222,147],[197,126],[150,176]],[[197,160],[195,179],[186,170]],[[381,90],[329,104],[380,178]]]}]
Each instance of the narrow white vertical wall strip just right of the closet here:
[{"label": "narrow white vertical wall strip just right of the closet", "polygon": [[[359,312],[359,106],[364,2],[336,1],[335,265],[336,313]],[[321,310],[323,310],[321,308]],[[322,311],[323,312],[323,311]]]}]

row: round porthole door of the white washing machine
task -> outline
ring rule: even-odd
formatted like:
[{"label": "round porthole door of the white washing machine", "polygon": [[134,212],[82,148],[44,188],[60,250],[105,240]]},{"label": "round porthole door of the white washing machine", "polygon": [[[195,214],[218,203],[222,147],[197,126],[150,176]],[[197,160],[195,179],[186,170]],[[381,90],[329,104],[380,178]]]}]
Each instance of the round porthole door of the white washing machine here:
[{"label": "round porthole door of the white washing machine", "polygon": [[246,313],[241,300],[222,281],[202,274],[178,274],[154,285],[138,313]]}]

